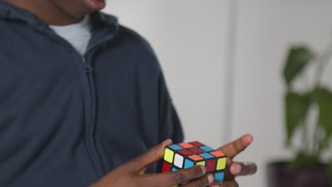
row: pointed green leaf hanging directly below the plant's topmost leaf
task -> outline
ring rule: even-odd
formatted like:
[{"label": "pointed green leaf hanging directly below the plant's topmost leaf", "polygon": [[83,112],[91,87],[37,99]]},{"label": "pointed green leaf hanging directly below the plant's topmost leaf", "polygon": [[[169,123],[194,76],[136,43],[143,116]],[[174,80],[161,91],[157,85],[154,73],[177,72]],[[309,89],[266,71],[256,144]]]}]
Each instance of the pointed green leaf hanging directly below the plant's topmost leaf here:
[{"label": "pointed green leaf hanging directly below the plant's topmost leaf", "polygon": [[285,96],[285,120],[287,129],[287,145],[289,145],[294,130],[306,117],[311,103],[311,93],[298,94],[288,91]]}]

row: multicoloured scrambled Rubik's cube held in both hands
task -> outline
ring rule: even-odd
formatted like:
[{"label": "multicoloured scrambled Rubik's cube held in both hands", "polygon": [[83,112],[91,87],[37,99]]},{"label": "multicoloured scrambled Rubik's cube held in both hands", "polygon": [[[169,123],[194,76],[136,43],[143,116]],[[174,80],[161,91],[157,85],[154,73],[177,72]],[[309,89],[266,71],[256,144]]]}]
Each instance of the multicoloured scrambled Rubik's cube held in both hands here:
[{"label": "multicoloured scrambled Rubik's cube held in both hands", "polygon": [[200,165],[214,174],[214,181],[222,182],[226,168],[226,155],[201,142],[183,142],[165,148],[162,172],[177,171]]}]

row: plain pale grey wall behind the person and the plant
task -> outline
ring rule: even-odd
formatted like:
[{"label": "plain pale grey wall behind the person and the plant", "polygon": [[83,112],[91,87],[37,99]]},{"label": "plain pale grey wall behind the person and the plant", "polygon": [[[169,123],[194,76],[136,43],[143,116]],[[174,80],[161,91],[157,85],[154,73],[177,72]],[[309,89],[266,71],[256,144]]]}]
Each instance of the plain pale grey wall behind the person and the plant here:
[{"label": "plain pale grey wall behind the person and the plant", "polygon": [[[250,132],[238,160],[258,174],[240,186],[265,187],[266,164],[284,148],[282,68],[290,45],[321,52],[331,41],[330,0],[109,0],[118,17],[153,46],[186,140],[217,148]],[[332,84],[332,65],[323,76]]]}]

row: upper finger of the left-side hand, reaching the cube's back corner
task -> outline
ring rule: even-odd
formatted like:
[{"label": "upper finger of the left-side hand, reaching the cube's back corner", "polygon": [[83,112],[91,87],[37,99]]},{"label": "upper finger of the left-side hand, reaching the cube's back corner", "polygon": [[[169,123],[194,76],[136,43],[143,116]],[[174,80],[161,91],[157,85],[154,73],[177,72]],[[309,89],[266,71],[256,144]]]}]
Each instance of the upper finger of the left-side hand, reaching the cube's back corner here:
[{"label": "upper finger of the left-side hand, reaching the cube's back corner", "polygon": [[160,160],[164,154],[165,147],[171,144],[172,140],[165,140],[160,145],[149,149],[148,152],[145,152],[139,157],[129,161],[126,164],[126,167],[132,171],[141,171],[142,169],[145,169],[146,167]]}]

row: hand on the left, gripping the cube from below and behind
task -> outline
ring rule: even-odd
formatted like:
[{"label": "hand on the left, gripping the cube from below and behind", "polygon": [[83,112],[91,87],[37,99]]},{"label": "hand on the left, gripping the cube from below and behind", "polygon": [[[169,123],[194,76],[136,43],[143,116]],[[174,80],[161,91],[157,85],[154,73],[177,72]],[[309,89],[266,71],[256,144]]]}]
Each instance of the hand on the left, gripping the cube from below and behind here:
[{"label": "hand on the left, gripping the cube from below and behind", "polygon": [[204,166],[194,166],[162,174],[145,174],[148,166],[161,159],[165,147],[170,144],[172,140],[165,140],[140,157],[111,171],[90,187],[170,187],[179,183],[186,183],[186,187],[205,187],[214,181],[214,176],[206,174]]}]

